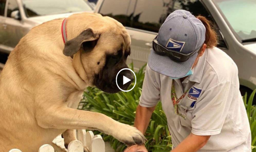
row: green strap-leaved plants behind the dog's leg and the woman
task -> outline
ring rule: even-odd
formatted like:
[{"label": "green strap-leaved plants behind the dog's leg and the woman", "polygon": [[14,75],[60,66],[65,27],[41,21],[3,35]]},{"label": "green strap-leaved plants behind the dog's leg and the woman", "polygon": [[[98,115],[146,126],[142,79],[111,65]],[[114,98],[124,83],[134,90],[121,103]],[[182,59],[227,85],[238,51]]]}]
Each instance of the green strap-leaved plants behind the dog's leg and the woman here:
[{"label": "green strap-leaved plants behind the dog's leg and the woman", "polygon": [[[133,70],[133,65],[130,68]],[[142,92],[142,84],[144,80],[144,67],[135,72],[137,83],[133,90],[129,92],[119,92],[108,94],[97,88],[88,87],[84,92],[84,98],[81,101],[81,109],[93,112],[100,112],[121,123],[133,125],[135,119],[135,111],[139,104],[139,98]],[[132,85],[128,88],[131,89]],[[253,97],[256,90],[253,91],[249,100],[247,94],[244,96],[244,104],[247,108],[247,116],[249,118],[252,132],[252,150],[256,152],[256,109],[252,105]],[[101,134],[104,141],[109,141],[111,147],[116,152],[123,152],[126,146],[110,135],[102,134],[94,131],[95,134]],[[145,137],[148,139],[146,148],[149,152],[169,152],[171,151],[171,135],[169,133],[167,118],[163,112],[161,102],[156,106],[154,113],[150,119],[150,124],[146,130]]]}]

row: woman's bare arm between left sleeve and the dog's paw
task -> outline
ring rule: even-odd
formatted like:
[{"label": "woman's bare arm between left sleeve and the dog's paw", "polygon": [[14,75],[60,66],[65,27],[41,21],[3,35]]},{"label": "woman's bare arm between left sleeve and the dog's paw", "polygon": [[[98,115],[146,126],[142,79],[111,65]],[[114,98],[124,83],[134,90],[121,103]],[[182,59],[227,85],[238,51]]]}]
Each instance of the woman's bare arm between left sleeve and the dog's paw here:
[{"label": "woman's bare arm between left sleeve and the dog's paw", "polygon": [[137,109],[136,109],[136,116],[135,116],[135,122],[134,122],[134,126],[140,130],[140,132],[142,132],[143,134],[146,132],[147,128],[148,128],[148,124],[150,122],[150,118],[152,116],[152,113],[155,110],[155,107],[142,107],[140,105],[138,105]]}]

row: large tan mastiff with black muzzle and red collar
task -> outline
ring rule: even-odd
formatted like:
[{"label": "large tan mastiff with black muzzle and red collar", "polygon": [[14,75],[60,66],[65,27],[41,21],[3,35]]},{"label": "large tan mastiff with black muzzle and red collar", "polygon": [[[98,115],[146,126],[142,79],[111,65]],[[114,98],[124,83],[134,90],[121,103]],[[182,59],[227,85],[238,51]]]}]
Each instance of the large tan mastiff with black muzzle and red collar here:
[{"label": "large tan mastiff with black muzzle and red collar", "polygon": [[[107,93],[120,91],[115,79],[119,70],[127,68],[131,44],[127,31],[110,17],[74,14],[66,19],[64,44],[63,20],[33,28],[1,72],[0,152],[13,148],[36,152],[61,133],[68,145],[75,140],[74,129],[100,130],[127,145],[143,144],[145,138],[135,127],[76,109],[88,86]],[[128,70],[121,74],[133,79]]]}]

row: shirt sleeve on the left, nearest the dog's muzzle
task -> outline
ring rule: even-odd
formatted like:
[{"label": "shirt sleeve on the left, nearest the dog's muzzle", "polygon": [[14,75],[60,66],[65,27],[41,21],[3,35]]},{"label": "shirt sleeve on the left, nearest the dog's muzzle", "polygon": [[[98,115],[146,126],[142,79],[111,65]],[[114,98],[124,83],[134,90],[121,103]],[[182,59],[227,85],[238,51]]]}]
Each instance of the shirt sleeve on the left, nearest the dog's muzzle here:
[{"label": "shirt sleeve on the left, nearest the dog's muzzle", "polygon": [[160,74],[151,70],[147,65],[140,96],[140,106],[153,107],[160,100],[160,87],[157,83],[157,78],[160,79]]}]

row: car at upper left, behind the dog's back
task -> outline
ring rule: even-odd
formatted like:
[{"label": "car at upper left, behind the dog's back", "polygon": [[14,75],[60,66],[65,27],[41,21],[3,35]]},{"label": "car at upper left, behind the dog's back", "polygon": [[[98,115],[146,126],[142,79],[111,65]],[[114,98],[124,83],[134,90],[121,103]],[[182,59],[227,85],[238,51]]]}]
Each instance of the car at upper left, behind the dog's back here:
[{"label": "car at upper left, behind the dog's back", "polygon": [[0,70],[31,28],[83,11],[93,12],[85,0],[0,0]]}]

